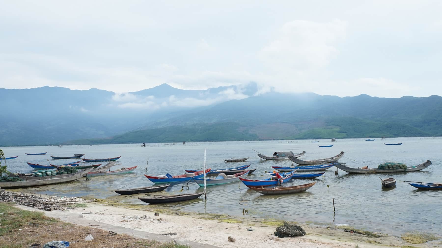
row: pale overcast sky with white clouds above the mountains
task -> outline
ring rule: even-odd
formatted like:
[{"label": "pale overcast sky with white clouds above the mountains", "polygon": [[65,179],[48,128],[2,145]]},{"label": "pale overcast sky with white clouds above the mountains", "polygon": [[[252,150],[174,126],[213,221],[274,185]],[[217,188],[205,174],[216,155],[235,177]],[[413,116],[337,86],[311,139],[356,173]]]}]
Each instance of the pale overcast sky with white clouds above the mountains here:
[{"label": "pale overcast sky with white clouds above the mountains", "polygon": [[442,95],[440,1],[2,1],[0,88]]}]

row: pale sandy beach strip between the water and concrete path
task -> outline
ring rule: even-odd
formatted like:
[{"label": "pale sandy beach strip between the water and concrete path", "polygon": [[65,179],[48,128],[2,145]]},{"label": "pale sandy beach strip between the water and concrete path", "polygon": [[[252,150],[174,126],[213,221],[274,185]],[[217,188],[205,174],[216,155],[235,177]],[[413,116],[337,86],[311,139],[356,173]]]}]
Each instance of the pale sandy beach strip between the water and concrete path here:
[{"label": "pale sandy beach strip between the water and concrete path", "polygon": [[[255,247],[255,248],[354,248],[354,247],[402,247],[409,243],[400,237],[379,234],[380,237],[368,237],[362,234],[344,232],[343,228],[322,227],[299,223],[307,235],[304,237],[278,238],[274,236],[275,227],[280,221],[258,220],[253,217],[229,217],[216,214],[189,214],[182,212],[155,213],[148,210],[136,210],[122,206],[110,206],[107,203],[91,202],[75,209],[65,210],[86,220],[98,221],[109,225],[122,226],[134,230],[168,235],[174,239],[189,240],[218,247]],[[238,223],[235,223],[238,222]],[[253,229],[249,231],[248,229]],[[235,242],[229,242],[228,237]],[[429,247],[430,243],[415,247]]]}]

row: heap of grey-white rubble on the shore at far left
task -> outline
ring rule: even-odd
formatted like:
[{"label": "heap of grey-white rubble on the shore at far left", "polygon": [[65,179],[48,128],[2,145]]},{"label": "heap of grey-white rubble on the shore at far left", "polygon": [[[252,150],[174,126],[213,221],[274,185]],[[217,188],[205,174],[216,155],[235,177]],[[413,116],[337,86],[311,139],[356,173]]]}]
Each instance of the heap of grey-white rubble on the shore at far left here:
[{"label": "heap of grey-white rubble on the shore at far left", "polygon": [[64,210],[68,204],[91,202],[77,197],[57,197],[57,196],[39,196],[27,195],[0,189],[0,202],[14,202],[19,205],[29,206],[40,210]]}]

